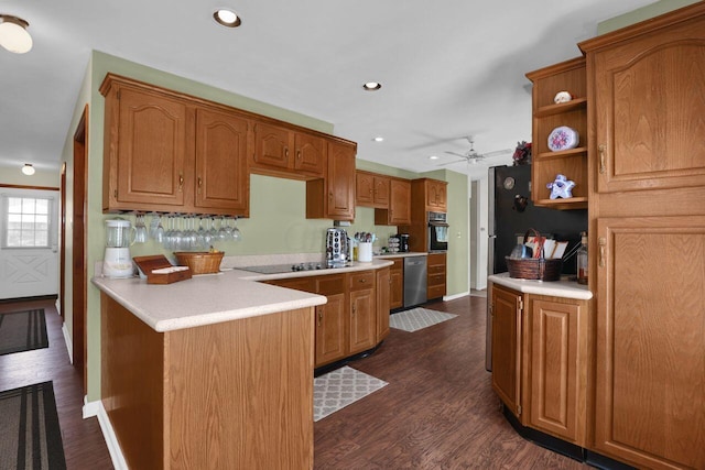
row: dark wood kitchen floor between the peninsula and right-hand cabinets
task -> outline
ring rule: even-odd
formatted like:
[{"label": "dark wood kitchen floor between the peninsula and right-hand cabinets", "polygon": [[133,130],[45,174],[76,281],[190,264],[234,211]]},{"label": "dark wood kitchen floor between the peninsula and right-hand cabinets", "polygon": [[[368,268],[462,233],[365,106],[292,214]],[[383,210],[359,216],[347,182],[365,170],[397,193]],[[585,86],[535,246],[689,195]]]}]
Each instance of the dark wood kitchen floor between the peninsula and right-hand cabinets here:
[{"label": "dark wood kitchen floor between the peninsula and right-hand cabinets", "polygon": [[485,370],[486,299],[425,307],[458,317],[392,329],[354,369],[389,382],[314,425],[316,469],[584,469],[517,435]]}]

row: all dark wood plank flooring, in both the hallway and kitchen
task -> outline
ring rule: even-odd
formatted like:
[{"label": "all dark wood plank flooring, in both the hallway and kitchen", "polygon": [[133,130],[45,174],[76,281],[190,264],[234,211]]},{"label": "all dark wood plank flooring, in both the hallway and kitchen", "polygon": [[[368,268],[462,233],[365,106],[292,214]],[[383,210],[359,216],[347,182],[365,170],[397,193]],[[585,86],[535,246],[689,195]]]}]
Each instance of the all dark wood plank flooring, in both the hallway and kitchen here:
[{"label": "all dark wood plank flooring, in both the hallway and kitchen", "polygon": [[[68,362],[54,300],[50,348],[0,357],[0,390],[54,381],[68,469],[111,469],[96,418],[82,418],[83,391]],[[392,329],[372,356],[349,365],[389,385],[315,423],[315,469],[584,469],[521,438],[501,416],[485,371],[486,299],[436,302],[457,314],[415,332]],[[0,304],[0,311],[22,308]]]}]

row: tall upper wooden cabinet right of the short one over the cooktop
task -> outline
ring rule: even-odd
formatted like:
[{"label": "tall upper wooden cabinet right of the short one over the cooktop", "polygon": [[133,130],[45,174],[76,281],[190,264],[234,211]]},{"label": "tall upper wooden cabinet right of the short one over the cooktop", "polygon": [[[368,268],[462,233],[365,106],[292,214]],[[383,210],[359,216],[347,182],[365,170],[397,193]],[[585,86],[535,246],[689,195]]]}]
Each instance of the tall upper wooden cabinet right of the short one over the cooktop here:
[{"label": "tall upper wooden cabinet right of the short one over the cooktop", "polygon": [[328,142],[325,178],[306,182],[306,218],[355,219],[355,155],[352,142]]}]

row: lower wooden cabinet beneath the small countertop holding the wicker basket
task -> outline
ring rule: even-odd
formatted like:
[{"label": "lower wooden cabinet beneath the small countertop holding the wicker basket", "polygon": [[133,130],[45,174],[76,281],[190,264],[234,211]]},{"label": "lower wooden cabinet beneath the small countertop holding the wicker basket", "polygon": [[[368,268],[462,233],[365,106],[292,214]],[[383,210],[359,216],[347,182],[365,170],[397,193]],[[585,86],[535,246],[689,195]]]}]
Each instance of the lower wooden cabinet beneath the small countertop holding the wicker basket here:
[{"label": "lower wooden cabinet beneath the small countertop holding the wicker basket", "polygon": [[523,426],[585,447],[588,300],[496,284],[490,298],[492,389]]}]

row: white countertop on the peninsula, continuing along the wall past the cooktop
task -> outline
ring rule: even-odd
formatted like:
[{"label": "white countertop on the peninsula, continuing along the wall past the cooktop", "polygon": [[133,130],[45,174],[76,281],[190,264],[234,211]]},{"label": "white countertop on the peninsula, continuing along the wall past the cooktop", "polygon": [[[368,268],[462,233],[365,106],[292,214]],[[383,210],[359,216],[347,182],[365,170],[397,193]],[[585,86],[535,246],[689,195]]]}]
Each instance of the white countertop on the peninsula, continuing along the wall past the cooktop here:
[{"label": "white countertop on the peninsula, continuing along the wall past the cooktop", "polygon": [[234,269],[164,285],[148,284],[147,280],[140,277],[96,276],[91,281],[155,331],[163,332],[314,307],[327,302],[322,295],[253,281],[366,271],[391,264],[391,261],[373,260],[371,263],[352,263],[349,267],[335,270],[267,275]]}]

